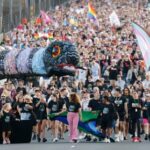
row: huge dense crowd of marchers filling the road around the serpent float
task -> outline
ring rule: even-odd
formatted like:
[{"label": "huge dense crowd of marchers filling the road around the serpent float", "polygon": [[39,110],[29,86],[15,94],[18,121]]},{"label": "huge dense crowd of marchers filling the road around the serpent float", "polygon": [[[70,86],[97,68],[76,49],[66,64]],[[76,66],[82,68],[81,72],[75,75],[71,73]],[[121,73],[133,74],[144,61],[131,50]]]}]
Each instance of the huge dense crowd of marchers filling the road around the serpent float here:
[{"label": "huge dense crowd of marchers filling the road around the serpent float", "polygon": [[[3,144],[10,143],[13,119],[32,119],[33,140],[38,142],[47,141],[46,130],[51,130],[53,142],[64,139],[68,130],[69,140],[77,142],[82,111],[99,111],[96,123],[106,135],[104,142],[109,143],[113,135],[116,142],[129,138],[141,142],[141,134],[150,140],[150,72],[145,71],[131,26],[131,22],[145,29],[150,25],[150,10],[142,2],[93,0],[98,20],[95,24],[87,17],[87,1],[75,0],[49,11],[51,23],[31,21],[5,36],[1,48],[12,50],[46,47],[54,40],[71,41],[77,46],[84,69],[78,69],[75,77],[4,81],[0,98]],[[109,15],[114,10],[120,27],[110,24]],[[51,39],[36,38],[38,33],[49,33]],[[69,112],[69,126],[48,117],[63,111]],[[80,134],[87,141],[95,141],[91,135]]]}]

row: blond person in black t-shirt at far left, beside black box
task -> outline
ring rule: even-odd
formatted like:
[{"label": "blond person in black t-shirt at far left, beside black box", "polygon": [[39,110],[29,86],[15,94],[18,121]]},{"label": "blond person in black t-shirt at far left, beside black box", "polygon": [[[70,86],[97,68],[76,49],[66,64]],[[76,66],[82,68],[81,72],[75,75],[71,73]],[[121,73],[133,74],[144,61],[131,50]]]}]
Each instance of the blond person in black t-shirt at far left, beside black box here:
[{"label": "blond person in black t-shirt at far left, beside black box", "polygon": [[2,122],[2,137],[3,137],[3,144],[10,144],[10,134],[11,134],[11,122],[12,122],[12,115],[10,113],[11,104],[6,103],[2,107],[2,111],[0,113],[0,118]]}]

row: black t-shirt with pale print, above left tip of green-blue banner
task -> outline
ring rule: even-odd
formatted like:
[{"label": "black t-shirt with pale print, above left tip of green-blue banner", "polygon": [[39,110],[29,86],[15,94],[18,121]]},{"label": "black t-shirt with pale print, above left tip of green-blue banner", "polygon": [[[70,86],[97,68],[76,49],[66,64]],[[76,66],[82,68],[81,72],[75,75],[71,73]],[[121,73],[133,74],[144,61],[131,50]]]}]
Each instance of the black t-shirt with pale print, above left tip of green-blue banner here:
[{"label": "black t-shirt with pale print, above left tip of green-blue banner", "polygon": [[48,104],[48,108],[50,109],[50,113],[57,113],[59,112],[61,109],[59,108],[59,102],[54,102],[53,100],[51,100]]}]

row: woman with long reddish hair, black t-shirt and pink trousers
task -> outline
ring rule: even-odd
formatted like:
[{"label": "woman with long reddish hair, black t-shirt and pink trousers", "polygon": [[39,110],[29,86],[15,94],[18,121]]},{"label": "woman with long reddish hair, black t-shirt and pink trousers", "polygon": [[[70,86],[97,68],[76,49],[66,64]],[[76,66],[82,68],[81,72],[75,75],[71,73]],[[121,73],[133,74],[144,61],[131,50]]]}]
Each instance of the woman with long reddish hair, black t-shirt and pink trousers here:
[{"label": "woman with long reddish hair, black t-shirt and pink trousers", "polygon": [[[67,120],[69,124],[70,141],[77,142],[79,113],[81,112],[80,99],[76,93],[70,95],[67,105]],[[81,114],[80,114],[81,115]]]}]

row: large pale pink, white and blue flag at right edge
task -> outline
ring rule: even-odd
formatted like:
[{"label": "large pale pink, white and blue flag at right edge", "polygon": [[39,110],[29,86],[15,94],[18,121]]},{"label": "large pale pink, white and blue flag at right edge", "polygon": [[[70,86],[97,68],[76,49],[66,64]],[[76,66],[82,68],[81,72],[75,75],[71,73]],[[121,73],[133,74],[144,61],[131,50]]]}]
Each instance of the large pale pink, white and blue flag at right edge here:
[{"label": "large pale pink, white and blue flag at right edge", "polygon": [[136,23],[132,23],[134,33],[136,35],[138,45],[141,49],[146,69],[150,68],[150,37],[148,34]]}]

